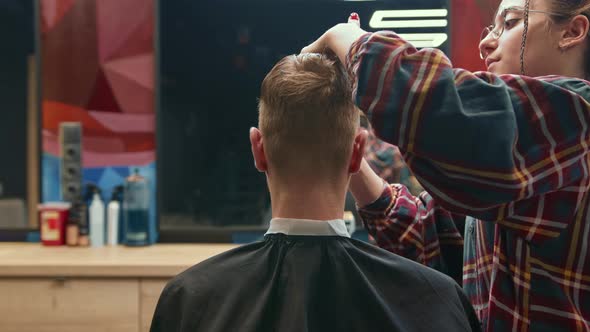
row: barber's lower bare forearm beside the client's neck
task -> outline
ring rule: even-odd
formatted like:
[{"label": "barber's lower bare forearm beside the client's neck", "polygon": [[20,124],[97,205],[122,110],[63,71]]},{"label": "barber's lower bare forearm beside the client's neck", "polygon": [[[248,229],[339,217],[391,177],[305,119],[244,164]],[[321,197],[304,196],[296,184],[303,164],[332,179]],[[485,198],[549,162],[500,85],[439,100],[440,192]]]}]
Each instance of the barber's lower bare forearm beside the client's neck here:
[{"label": "barber's lower bare forearm beside the client's neck", "polygon": [[383,193],[383,179],[363,159],[358,173],[350,178],[350,192],[359,207],[373,203]]}]

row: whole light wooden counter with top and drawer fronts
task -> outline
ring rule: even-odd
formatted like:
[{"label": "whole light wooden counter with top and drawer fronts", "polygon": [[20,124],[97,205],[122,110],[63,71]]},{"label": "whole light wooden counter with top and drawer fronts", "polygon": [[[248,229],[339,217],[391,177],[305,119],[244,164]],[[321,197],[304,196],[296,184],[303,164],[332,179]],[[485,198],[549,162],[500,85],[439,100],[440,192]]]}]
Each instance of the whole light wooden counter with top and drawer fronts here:
[{"label": "whole light wooden counter with top and drawer fronts", "polygon": [[0,243],[0,331],[146,332],[176,274],[235,245]]}]

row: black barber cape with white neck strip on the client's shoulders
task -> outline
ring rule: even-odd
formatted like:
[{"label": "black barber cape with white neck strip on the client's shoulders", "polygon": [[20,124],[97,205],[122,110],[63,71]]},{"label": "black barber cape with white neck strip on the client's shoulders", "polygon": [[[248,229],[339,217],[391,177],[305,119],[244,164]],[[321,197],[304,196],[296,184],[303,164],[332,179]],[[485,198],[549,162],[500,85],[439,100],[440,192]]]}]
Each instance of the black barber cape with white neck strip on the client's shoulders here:
[{"label": "black barber cape with white neck strip on the client's shoulders", "polygon": [[273,219],[263,241],[176,276],[151,326],[151,332],[479,330],[451,278],[351,239],[342,220],[294,219]]}]

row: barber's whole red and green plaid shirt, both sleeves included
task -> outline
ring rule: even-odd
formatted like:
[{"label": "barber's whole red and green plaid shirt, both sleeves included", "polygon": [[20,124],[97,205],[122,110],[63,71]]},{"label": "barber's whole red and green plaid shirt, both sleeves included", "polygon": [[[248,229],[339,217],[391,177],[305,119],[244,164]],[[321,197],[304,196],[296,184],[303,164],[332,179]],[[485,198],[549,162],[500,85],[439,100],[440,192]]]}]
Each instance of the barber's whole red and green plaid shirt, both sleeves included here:
[{"label": "barber's whole red and green plaid shirt, both sleeves included", "polygon": [[[377,243],[445,272],[464,247],[486,331],[590,330],[590,82],[454,69],[392,32],[361,37],[347,66],[429,193],[392,185],[361,209]],[[448,211],[473,216],[464,245]]]}]

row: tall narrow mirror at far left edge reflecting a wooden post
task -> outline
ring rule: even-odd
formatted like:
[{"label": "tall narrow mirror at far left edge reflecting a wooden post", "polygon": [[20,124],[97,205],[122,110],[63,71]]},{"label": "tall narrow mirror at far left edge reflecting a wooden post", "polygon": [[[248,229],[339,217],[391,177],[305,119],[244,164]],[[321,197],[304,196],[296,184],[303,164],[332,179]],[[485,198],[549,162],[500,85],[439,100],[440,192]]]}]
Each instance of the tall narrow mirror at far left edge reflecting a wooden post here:
[{"label": "tall narrow mirror at far left edge reflecting a wooden post", "polygon": [[33,1],[0,2],[0,228],[15,232],[37,227],[40,198],[35,13]]}]

